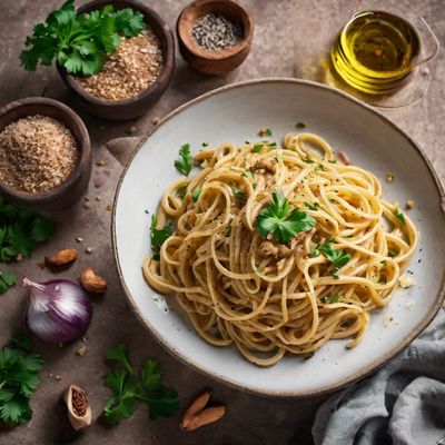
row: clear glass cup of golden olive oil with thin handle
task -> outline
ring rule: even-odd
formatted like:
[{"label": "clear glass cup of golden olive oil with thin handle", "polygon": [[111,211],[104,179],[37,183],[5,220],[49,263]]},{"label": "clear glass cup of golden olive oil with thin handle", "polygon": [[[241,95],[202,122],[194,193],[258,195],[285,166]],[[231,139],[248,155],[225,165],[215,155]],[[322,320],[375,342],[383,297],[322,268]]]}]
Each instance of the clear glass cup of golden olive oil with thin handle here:
[{"label": "clear glass cup of golden olive oil with thin handle", "polygon": [[334,83],[378,107],[413,105],[427,90],[431,75],[425,66],[438,50],[437,37],[422,17],[360,9],[330,50]]}]

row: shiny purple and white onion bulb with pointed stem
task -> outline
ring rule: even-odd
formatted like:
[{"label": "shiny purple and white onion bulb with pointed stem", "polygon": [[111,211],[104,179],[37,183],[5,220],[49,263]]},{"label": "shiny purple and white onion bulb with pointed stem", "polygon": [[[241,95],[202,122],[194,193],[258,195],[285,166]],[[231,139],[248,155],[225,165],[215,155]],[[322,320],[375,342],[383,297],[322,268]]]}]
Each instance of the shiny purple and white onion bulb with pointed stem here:
[{"label": "shiny purple and white onion bulb with pointed stem", "polygon": [[68,343],[85,335],[92,305],[80,285],[70,279],[33,283],[23,279],[30,291],[27,325],[37,337],[48,343]]}]

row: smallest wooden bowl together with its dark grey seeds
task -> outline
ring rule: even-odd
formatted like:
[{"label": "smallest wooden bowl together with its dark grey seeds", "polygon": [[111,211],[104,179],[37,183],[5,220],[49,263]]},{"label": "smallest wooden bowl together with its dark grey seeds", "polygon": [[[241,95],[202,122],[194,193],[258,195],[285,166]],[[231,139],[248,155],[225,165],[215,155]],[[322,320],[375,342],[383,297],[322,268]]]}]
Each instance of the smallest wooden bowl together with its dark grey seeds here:
[{"label": "smallest wooden bowl together with its dark grey seeds", "polygon": [[250,51],[254,20],[234,0],[196,0],[180,13],[176,32],[188,63],[206,75],[225,75]]}]

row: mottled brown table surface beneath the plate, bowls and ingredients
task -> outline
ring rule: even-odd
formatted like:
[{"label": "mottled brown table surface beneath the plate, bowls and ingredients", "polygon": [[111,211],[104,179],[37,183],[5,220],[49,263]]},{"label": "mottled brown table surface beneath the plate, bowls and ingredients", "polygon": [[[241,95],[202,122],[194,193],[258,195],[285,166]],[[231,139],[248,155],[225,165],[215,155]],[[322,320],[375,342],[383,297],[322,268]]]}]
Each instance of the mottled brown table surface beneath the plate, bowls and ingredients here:
[{"label": "mottled brown table surface beneath the plate, bowls and ingredients", "polygon": [[[148,1],[175,28],[178,13],[186,4],[181,0]],[[152,120],[165,116],[187,100],[222,85],[260,77],[303,77],[316,79],[319,59],[325,56],[338,29],[350,16],[355,0],[246,0],[255,23],[251,52],[235,72],[220,78],[209,78],[190,70],[177,56],[177,69],[170,89],[146,116],[132,122],[107,122],[80,112],[91,136],[95,159],[107,160],[107,166],[95,165],[90,188],[90,208],[83,201],[53,217],[58,221],[55,238],[42,246],[31,259],[14,265],[19,278],[24,275],[48,279],[49,273],[38,263],[60,248],[77,247],[79,260],[65,276],[76,278],[83,266],[95,266],[109,283],[109,291],[95,300],[95,317],[87,336],[87,353],[79,357],[78,343],[62,348],[36,342],[44,357],[41,385],[32,398],[34,414],[31,422],[11,432],[0,432],[1,445],[61,445],[61,444],[307,444],[315,411],[324,398],[296,400],[264,398],[230,389],[197,374],[180,364],[162,349],[151,335],[137,322],[127,307],[123,291],[115,271],[111,245],[112,202],[121,165],[103,145],[125,136],[130,126],[140,136],[152,127]],[[387,4],[388,1],[380,3]],[[445,42],[445,8],[443,0],[397,1],[403,8],[422,11],[433,29]],[[70,105],[55,68],[26,72],[19,67],[18,57],[23,39],[32,24],[42,20],[49,10],[61,4],[57,0],[0,0],[0,106],[28,96],[46,96]],[[443,52],[434,63],[433,81],[426,97],[417,105],[387,116],[406,130],[424,148],[442,181],[445,180],[445,63]],[[129,145],[129,150],[131,150]],[[413,172],[415,175],[415,172]],[[100,196],[100,200],[95,198]],[[76,237],[83,237],[82,244]],[[92,248],[87,255],[85,249]],[[0,297],[0,343],[22,324],[27,295],[20,286]],[[182,433],[178,427],[179,412],[174,418],[149,421],[145,408],[115,428],[108,428],[97,417],[109,394],[103,385],[105,352],[117,343],[130,346],[131,358],[139,364],[146,357],[156,357],[162,365],[166,383],[178,389],[181,407],[186,406],[202,388],[211,387],[215,397],[226,403],[226,417],[195,433]],[[60,380],[55,378],[60,376]],[[51,377],[52,376],[52,377]],[[66,416],[60,397],[70,383],[85,387],[93,409],[93,425],[81,436],[76,435]],[[326,398],[326,397],[325,397]]]}]

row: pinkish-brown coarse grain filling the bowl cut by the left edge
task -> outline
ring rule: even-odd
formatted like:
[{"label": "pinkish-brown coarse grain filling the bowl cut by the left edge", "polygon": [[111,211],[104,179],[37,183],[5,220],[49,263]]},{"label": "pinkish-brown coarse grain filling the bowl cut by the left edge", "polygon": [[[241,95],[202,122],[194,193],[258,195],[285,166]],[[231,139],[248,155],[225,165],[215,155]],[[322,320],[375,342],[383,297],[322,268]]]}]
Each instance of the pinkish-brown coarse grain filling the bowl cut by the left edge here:
[{"label": "pinkish-brown coarse grain filling the bowl cut by the left edge", "polygon": [[0,180],[12,189],[51,190],[68,178],[78,159],[71,131],[48,116],[28,116],[0,132]]}]

